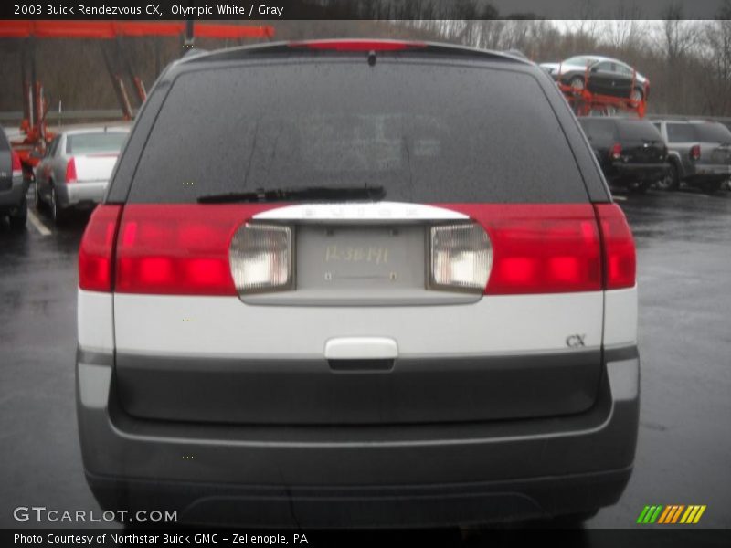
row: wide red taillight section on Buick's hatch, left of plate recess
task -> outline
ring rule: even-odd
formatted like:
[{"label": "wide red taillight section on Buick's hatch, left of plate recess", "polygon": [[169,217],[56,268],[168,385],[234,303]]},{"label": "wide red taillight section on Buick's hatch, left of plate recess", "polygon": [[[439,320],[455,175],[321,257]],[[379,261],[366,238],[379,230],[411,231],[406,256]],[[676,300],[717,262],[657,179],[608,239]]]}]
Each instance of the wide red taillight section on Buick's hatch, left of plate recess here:
[{"label": "wide red taillight section on Buick's hatch, left of plate recess", "polygon": [[228,248],[237,228],[271,205],[145,205],[124,208],[115,291],[238,295]]}]

